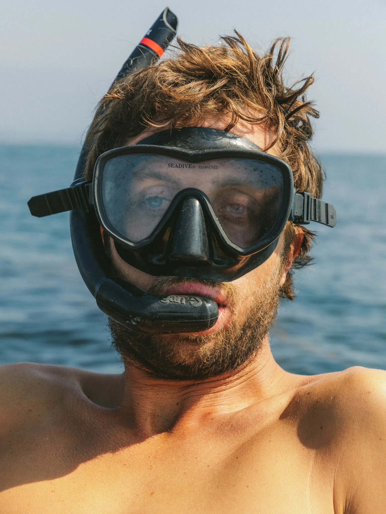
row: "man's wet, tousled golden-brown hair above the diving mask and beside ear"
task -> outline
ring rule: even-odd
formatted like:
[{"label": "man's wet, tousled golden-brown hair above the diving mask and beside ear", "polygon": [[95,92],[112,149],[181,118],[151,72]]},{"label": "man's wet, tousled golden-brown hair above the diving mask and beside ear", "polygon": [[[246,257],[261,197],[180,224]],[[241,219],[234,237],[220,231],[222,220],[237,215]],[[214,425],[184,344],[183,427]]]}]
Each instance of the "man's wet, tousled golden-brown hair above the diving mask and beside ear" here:
[{"label": "man's wet, tousled golden-brown hair above the diving mask and beside ear", "polygon": [[[219,45],[197,46],[177,39],[169,58],[134,72],[113,84],[99,102],[86,136],[89,150],[85,177],[91,179],[100,154],[124,146],[129,138],[145,130],[160,131],[200,125],[208,117],[223,116],[230,131],[239,121],[260,123],[275,134],[268,150],[290,165],[298,192],[320,198],[324,172],[312,153],[312,118],[319,112],[305,94],[313,76],[286,85],[283,70],[289,38],[275,40],[266,53],[256,52],[235,31]],[[285,250],[297,232],[303,243],[293,268],[309,264],[314,234],[288,222]],[[293,272],[281,291],[293,299]]]}]

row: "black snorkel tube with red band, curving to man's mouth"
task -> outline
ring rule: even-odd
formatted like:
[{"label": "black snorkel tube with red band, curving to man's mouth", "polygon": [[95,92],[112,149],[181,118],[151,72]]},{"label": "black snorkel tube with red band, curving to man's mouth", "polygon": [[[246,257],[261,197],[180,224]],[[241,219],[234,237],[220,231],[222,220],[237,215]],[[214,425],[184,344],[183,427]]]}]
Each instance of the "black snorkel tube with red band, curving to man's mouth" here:
[{"label": "black snorkel tube with red band, curving to man's mouth", "polygon": [[[173,40],[176,29],[176,15],[165,8],[130,54],[114,83],[138,69],[154,64]],[[84,182],[86,160],[87,150],[83,145],[72,187]],[[85,212],[73,208],[70,213],[70,229],[75,260],[82,279],[98,307],[118,323],[133,332],[157,334],[201,332],[216,323],[218,306],[210,298],[149,295],[129,282],[114,277],[94,211]]]}]

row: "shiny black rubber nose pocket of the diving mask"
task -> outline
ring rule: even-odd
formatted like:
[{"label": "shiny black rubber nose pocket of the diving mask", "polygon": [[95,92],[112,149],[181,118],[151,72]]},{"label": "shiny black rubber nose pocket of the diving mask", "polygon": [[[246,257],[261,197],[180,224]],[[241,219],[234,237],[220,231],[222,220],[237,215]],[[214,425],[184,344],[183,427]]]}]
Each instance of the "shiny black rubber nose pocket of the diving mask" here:
[{"label": "shiny black rubber nose pocket of the diving mask", "polygon": [[182,202],[174,229],[170,257],[185,261],[209,259],[208,235],[201,204],[194,196]]}]

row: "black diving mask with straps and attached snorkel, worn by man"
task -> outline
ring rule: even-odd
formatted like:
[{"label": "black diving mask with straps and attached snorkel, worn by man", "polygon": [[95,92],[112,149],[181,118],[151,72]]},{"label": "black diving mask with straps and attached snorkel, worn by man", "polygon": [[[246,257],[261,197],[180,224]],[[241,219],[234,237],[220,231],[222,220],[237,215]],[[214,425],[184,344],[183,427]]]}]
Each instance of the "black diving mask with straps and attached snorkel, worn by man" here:
[{"label": "black diving mask with straps and attached snorkel, worn by man", "polygon": [[[176,28],[177,18],[166,8],[132,52],[116,80],[154,64],[173,39]],[[195,172],[186,175],[185,185],[171,195],[169,208],[160,214],[154,225],[148,224],[147,219],[150,218],[141,213],[137,213],[137,218],[128,214],[133,206],[139,205],[138,201],[130,200],[130,170],[136,156],[136,162],[141,159],[149,161],[151,157],[153,178],[154,174],[161,174],[174,184],[177,183],[176,176],[172,177],[168,172],[175,168],[175,162],[178,161],[179,169],[192,169],[197,165]],[[172,158],[173,162],[167,164],[166,158]],[[269,258],[288,220],[298,224],[316,221],[331,227],[336,223],[334,207],[312,198],[309,193],[296,193],[292,171],[286,162],[263,152],[251,141],[226,131],[183,127],[155,134],[134,146],[111,150],[99,157],[92,183],[84,179],[86,159],[87,150],[83,146],[71,187],[35,196],[29,200],[28,206],[31,214],[38,217],[72,211],[72,244],[82,279],[98,307],[133,332],[171,334],[205,331],[216,323],[218,305],[206,297],[150,295],[118,277],[104,247],[101,228],[104,234],[110,235],[118,255],[126,263],[150,275],[227,282],[241,277]],[[119,166],[114,164],[117,161],[124,162],[120,168],[122,173],[110,180],[108,188],[115,187],[124,196],[113,198],[109,206],[103,181],[109,181],[104,180],[109,166],[118,170]],[[250,216],[252,221],[241,227],[251,229],[241,231],[248,236],[244,242],[238,237],[236,226],[233,230],[226,226],[225,217],[221,218],[223,211],[216,211],[216,203],[202,191],[202,187],[189,185],[189,180],[199,176],[205,176],[205,179],[212,177],[213,183],[223,182],[226,169],[233,166],[232,163],[236,163],[235,167],[232,173],[228,170],[227,184],[223,183],[223,187],[231,187],[236,181],[237,187],[240,186],[239,192],[244,188],[240,194],[249,188],[255,195],[249,196],[254,202],[250,204],[254,210],[249,210],[253,214]],[[166,166],[165,171],[161,170],[162,166]],[[213,171],[219,169],[216,178]],[[205,172],[198,173],[198,170]],[[221,170],[224,170],[223,174]],[[145,170],[141,178],[143,171],[137,170],[135,178],[145,180],[150,171]],[[245,178],[248,183],[242,178],[243,173],[244,178],[249,177]],[[240,184],[240,180],[244,183]],[[126,189],[121,188],[123,183]],[[164,186],[162,188],[165,189]],[[219,190],[217,192],[219,198],[224,197]],[[153,206],[156,207],[160,197],[152,196],[151,199],[156,200]],[[148,230],[141,237],[133,238],[128,233],[125,236],[126,229],[119,231],[109,218],[111,211],[120,207],[121,213],[125,214],[125,204],[128,208],[125,223],[135,225],[138,230],[143,222],[142,228]],[[232,200],[225,207],[234,206]],[[110,214],[107,212],[109,209]],[[121,213],[116,213],[118,218],[122,218]],[[151,216],[155,219],[154,209]]]}]

